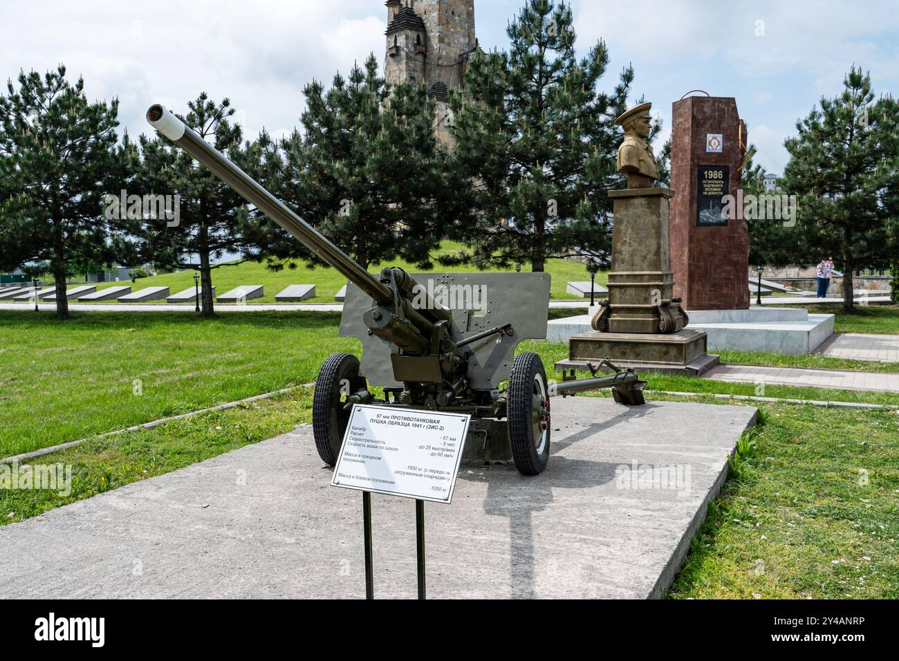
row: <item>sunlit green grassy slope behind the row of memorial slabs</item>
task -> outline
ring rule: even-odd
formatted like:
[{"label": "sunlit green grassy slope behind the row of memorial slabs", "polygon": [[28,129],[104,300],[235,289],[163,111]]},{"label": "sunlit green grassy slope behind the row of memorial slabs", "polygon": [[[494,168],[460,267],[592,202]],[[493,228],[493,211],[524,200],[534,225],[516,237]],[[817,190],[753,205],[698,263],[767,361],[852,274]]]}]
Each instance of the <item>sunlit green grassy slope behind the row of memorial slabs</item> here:
[{"label": "sunlit green grassy slope behind the row of memorial slabs", "polygon": [[[444,241],[435,255],[444,255],[449,252],[458,250],[459,244]],[[402,266],[409,272],[422,272],[421,269],[414,264],[407,264],[402,260],[390,262],[389,264],[373,264],[369,267],[369,272],[377,273],[382,266]],[[525,270],[529,269],[529,265],[524,266]],[[436,268],[432,272],[446,272],[448,269]],[[452,271],[472,272],[477,271],[475,266],[459,266],[454,267]],[[590,274],[587,272],[586,266],[577,262],[571,262],[565,259],[547,260],[546,270],[552,275],[552,298],[553,299],[576,299],[565,292],[565,282],[567,281],[589,281]],[[108,287],[120,286],[122,284],[131,285],[132,291],[140,290],[144,287],[168,287],[172,294],[193,287],[193,271],[179,271],[174,273],[166,273],[165,275],[157,275],[150,278],[138,278],[137,282],[131,284],[126,282],[102,282],[97,286],[97,290],[104,290]],[[607,272],[598,272],[596,274],[597,284],[604,285],[608,281]],[[255,264],[246,262],[244,264],[225,264],[220,268],[212,271],[212,283],[216,287],[217,294],[224,294],[228,290],[232,290],[240,285],[263,285],[264,294],[261,299],[253,299],[248,303],[274,303],[275,295],[284,290],[291,284],[314,284],[316,285],[316,298],[308,299],[305,303],[334,303],[334,294],[346,284],[346,278],[332,268],[319,267],[310,269],[298,264],[296,269],[285,268],[280,272],[270,271],[265,264]],[[116,301],[96,301],[97,303],[105,303],[112,307],[118,305]],[[151,303],[164,304],[165,300],[150,301]]]}]

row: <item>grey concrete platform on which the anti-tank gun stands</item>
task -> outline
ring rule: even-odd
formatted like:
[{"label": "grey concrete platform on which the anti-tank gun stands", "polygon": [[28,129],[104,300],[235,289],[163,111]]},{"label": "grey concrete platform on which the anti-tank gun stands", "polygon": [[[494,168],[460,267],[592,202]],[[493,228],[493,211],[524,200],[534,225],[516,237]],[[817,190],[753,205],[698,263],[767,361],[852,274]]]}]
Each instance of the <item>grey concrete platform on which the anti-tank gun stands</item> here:
[{"label": "grey concrete platform on which the anti-tank gun stands", "polygon": [[[661,596],[757,415],[595,397],[553,408],[542,475],[463,464],[452,505],[427,505],[431,598]],[[681,477],[654,488],[669,472]],[[330,479],[299,427],[0,527],[0,596],[361,598],[361,496]],[[376,597],[414,597],[414,512],[372,496]]]}]

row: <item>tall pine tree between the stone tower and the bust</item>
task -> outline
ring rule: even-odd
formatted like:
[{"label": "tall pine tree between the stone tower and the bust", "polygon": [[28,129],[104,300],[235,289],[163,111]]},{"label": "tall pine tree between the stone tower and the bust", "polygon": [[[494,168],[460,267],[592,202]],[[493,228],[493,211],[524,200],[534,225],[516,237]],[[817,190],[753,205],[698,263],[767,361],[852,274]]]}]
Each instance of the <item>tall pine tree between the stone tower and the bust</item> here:
[{"label": "tall pine tree between the stone tower and the bust", "polygon": [[455,94],[454,165],[473,218],[458,237],[469,252],[445,260],[509,267],[547,258],[610,253],[608,192],[633,70],[611,94],[598,91],[609,63],[603,42],[575,56],[571,8],[528,0],[507,28],[508,52],[480,53]]}]

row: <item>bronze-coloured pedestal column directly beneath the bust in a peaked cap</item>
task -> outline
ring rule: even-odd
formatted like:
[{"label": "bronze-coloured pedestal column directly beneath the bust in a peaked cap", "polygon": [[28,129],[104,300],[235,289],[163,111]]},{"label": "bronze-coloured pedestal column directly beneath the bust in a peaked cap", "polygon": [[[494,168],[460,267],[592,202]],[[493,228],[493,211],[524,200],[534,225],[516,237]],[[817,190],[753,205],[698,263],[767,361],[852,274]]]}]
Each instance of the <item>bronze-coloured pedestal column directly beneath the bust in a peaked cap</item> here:
[{"label": "bronze-coloured pedestal column directly beneath the bust in a peaked cap", "polygon": [[612,271],[609,273],[610,333],[675,333],[687,325],[672,302],[674,280],[668,248],[668,188],[610,191]]}]

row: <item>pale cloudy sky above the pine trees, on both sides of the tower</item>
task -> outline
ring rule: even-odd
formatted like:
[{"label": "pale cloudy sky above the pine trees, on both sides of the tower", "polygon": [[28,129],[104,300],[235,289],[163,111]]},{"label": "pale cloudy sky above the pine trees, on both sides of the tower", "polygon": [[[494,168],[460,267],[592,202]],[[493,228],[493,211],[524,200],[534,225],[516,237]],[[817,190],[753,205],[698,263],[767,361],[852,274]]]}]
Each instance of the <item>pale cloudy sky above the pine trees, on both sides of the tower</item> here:
[{"label": "pale cloudy sky above the pine trees, on both sides of the tower", "polygon": [[[483,48],[506,46],[523,1],[476,0]],[[632,62],[634,98],[654,103],[661,139],[682,94],[734,96],[758,161],[778,174],[797,118],[838,94],[853,63],[870,71],[877,93],[899,94],[899,0],[571,4],[579,49],[609,45],[603,89]],[[247,136],[263,127],[280,135],[298,125],[307,82],[330,81],[369,52],[383,63],[386,22],[383,0],[3,0],[0,74],[62,62],[85,77],[89,97],[119,98],[121,124],[135,136],[147,130],[150,103],[184,112],[200,91],[229,97]]]}]

